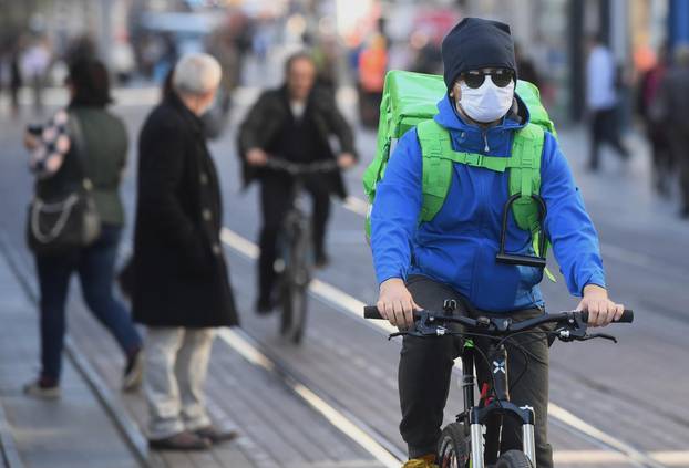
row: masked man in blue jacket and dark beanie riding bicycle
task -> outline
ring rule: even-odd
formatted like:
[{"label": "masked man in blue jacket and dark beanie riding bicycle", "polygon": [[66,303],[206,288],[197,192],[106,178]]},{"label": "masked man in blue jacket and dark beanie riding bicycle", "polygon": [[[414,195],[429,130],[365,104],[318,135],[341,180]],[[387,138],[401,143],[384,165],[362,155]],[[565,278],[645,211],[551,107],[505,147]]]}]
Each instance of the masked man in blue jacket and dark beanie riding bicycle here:
[{"label": "masked man in blue jacket and dark beanie riding bicycle", "polygon": [[[543,269],[496,261],[503,212],[510,209],[511,170],[505,170],[505,164],[502,171],[495,170],[500,162],[493,168],[476,163],[511,158],[515,139],[522,138],[520,132],[529,125],[529,113],[514,93],[517,70],[510,27],[464,19],[443,40],[442,58],[449,92],[438,103],[432,135],[449,135],[451,149],[443,150],[453,153],[454,158],[448,169],[450,186],[440,210],[424,220],[426,178],[436,175],[426,174],[431,165],[422,146],[428,133],[420,136],[419,125],[400,138],[377,187],[371,212],[371,249],[380,283],[378,309],[401,329],[412,325],[414,310],[442,310],[448,299],[457,301],[462,313],[470,316],[523,321],[539,315],[544,311],[538,288]],[[535,147],[542,147],[534,155],[541,160],[538,195],[546,208],[543,232],[552,242],[569,292],[583,297],[577,309],[588,311],[589,326],[607,325],[619,319],[624,308],[608,299],[596,230],[557,141],[547,132],[536,135],[541,142]],[[506,251],[545,256],[532,247],[532,232],[520,228],[512,212],[507,221]],[[529,365],[525,365],[523,353],[510,352],[511,376],[525,372],[520,384],[511,387],[511,397],[518,406],[534,407],[537,466],[552,467],[546,435],[548,342],[542,334],[513,340],[507,349],[524,349]],[[489,344],[476,340],[475,345],[485,352]],[[461,344],[451,336],[403,339],[400,431],[409,447],[410,466],[434,462],[451,370],[460,353]],[[485,363],[477,361],[476,367],[480,385],[489,382]],[[501,451],[521,448],[521,436],[516,422],[506,418]]]}]

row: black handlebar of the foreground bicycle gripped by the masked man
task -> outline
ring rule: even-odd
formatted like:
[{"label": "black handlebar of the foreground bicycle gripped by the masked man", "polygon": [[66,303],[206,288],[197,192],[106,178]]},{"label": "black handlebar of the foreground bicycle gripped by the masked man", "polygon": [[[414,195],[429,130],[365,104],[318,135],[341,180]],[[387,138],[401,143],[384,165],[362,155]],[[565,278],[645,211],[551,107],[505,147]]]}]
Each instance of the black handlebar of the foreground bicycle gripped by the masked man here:
[{"label": "black handlebar of the foreground bicycle gripped by the masked man", "polygon": [[[428,316],[433,322],[451,322],[451,323],[460,323],[471,329],[480,330],[482,333],[495,334],[495,335],[505,335],[517,333],[524,330],[533,329],[537,325],[542,325],[544,323],[557,323],[557,322],[577,322],[577,315],[580,318],[583,323],[588,322],[588,312],[587,311],[570,311],[570,312],[561,312],[557,314],[543,314],[541,316],[536,316],[534,319],[528,319],[522,322],[513,323],[511,320],[503,319],[487,319],[487,318],[479,318],[471,319],[469,316],[462,315],[445,315],[444,313],[438,313],[433,311],[417,311],[414,312],[414,321],[419,321]],[[363,308],[363,318],[364,319],[380,319],[383,316],[380,314],[378,306],[376,305],[366,305]],[[508,319],[508,316],[505,316]],[[615,321],[615,323],[631,323],[634,321],[634,311],[626,309],[619,320]]]}]

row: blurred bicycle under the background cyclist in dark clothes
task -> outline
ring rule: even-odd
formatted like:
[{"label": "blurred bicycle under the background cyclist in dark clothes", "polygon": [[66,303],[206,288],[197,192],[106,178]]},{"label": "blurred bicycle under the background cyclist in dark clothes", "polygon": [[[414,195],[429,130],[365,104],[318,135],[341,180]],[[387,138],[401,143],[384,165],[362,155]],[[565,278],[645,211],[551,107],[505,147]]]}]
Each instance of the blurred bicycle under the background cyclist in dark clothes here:
[{"label": "blurred bicycle under the background cyclist in dark clothes", "polygon": [[281,251],[280,334],[292,343],[300,343],[306,327],[307,289],[313,271],[311,216],[306,205],[305,179],[308,176],[336,170],[337,163],[325,160],[297,164],[279,157],[270,157],[266,167],[284,171],[294,180],[289,195],[291,206],[285,216],[278,238]]}]

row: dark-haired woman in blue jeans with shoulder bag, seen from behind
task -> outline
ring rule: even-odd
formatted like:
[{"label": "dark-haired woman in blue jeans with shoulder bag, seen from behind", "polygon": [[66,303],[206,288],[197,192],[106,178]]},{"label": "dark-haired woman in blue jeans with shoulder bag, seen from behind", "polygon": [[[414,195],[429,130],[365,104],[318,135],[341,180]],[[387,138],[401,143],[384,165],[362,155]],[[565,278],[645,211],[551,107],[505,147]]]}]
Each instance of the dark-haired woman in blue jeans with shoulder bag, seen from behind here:
[{"label": "dark-haired woman in blue jeans with shoulder bag, seen from behind", "polygon": [[[100,237],[88,247],[35,256],[41,294],[42,368],[39,379],[28,384],[24,391],[38,397],[60,395],[65,302],[74,272],[79,274],[86,305],[126,356],[123,388],[136,388],[142,374],[141,337],[128,312],[112,291],[124,225],[119,190],[126,164],[126,128],[122,119],[106,110],[111,103],[110,84],[102,63],[93,60],[73,63],[68,87],[71,95],[68,108],[59,111],[40,134],[27,133],[24,138],[32,150],[35,196],[47,204],[61,200],[74,185],[82,183],[83,168],[93,185],[93,199],[102,226]],[[79,135],[74,128],[79,128]]]}]

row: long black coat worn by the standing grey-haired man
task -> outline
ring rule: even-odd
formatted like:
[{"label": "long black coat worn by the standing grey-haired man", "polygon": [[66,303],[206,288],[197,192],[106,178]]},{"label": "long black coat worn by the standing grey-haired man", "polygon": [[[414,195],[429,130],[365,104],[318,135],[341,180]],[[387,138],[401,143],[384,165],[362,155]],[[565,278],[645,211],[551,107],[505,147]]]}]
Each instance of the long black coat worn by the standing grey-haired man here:
[{"label": "long black coat worn by the standing grey-haired man", "polygon": [[223,207],[200,119],[176,95],[138,142],[134,319],[150,326],[232,326],[234,298],[220,245]]}]

